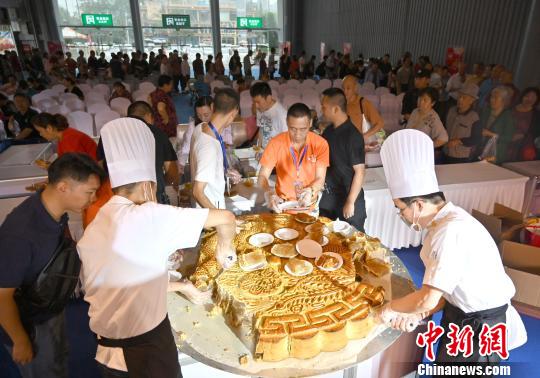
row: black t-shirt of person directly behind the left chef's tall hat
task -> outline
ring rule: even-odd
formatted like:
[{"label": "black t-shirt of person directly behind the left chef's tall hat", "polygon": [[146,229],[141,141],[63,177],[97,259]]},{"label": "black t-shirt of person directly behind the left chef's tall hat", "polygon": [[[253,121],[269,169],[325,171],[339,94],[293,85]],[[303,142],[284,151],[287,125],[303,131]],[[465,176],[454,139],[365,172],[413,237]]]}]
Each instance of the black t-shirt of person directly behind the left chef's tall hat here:
[{"label": "black t-shirt of person directly behind the left chef's tall hat", "polygon": [[[140,120],[143,121],[142,119]],[[163,172],[163,163],[166,161],[177,161],[178,157],[176,156],[176,151],[174,150],[167,134],[165,134],[161,129],[158,129],[154,125],[150,125],[146,122],[144,123],[150,129],[156,141],[156,195],[158,202],[163,203],[163,201],[161,200],[163,198],[163,195],[165,194],[165,174]],[[101,141],[101,138],[99,139],[96,155],[98,161],[105,161],[104,168],[108,172],[105,160],[105,150],[103,149],[103,143]]]}]

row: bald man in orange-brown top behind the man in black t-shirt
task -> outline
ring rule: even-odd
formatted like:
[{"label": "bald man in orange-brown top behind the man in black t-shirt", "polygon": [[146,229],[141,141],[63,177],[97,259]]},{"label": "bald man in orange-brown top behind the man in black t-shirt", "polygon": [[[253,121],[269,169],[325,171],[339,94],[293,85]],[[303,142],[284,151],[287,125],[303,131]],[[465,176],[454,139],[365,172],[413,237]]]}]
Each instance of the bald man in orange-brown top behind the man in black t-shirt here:
[{"label": "bald man in orange-brown top behind the man in black t-shirt", "polygon": [[[355,76],[347,75],[343,79],[343,92],[347,98],[347,115],[354,126],[364,135],[364,141],[369,143],[374,135],[382,130],[384,121],[373,104],[358,94],[358,80]],[[363,130],[363,118],[371,124],[369,130]]]}]

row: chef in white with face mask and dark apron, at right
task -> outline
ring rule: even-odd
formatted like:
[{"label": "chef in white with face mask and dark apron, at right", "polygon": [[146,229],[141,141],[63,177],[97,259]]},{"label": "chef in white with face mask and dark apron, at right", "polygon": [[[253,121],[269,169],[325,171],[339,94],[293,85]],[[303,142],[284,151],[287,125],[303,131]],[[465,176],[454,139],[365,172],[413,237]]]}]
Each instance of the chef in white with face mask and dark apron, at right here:
[{"label": "chef in white with face mask and dark apron, at right", "polygon": [[[381,158],[398,215],[415,231],[426,231],[420,257],[426,270],[422,287],[392,300],[382,318],[394,328],[410,325],[443,310],[438,363],[498,363],[497,354],[481,356],[478,336],[483,324],[506,323],[510,348],[526,341],[526,332],[510,305],[515,288],[504,271],[497,245],[465,210],[445,200],[435,175],[433,142],[418,130],[401,130],[383,144]],[[447,354],[449,323],[474,331],[473,354]],[[441,347],[442,346],[442,347]]]}]

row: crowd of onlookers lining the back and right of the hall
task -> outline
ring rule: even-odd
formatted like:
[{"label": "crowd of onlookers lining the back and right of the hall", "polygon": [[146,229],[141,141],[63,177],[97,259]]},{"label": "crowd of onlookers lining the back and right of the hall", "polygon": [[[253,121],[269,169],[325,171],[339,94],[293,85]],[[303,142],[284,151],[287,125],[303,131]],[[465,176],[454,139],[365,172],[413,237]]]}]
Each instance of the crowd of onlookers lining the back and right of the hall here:
[{"label": "crowd of onlookers lining the back and right of the hall", "polygon": [[[372,83],[375,88],[386,87],[396,95],[403,93],[402,125],[430,135],[438,163],[475,161],[479,158],[497,163],[530,160],[536,158],[540,147],[540,143],[535,144],[540,136],[538,87],[528,87],[520,92],[512,82],[511,71],[499,64],[478,62],[467,72],[463,62],[455,67],[434,65],[428,56],[420,56],[413,62],[410,53],[405,53],[393,65],[388,54],[380,59],[364,59],[359,54],[357,59],[353,59],[350,54],[331,50],[316,64],[316,57],[308,58],[305,51],[291,55],[285,48],[278,55],[275,48],[271,48],[268,54],[260,50],[254,54],[249,50],[242,58],[235,50],[226,72],[221,53],[215,59],[213,55],[208,55],[206,61],[196,54],[195,60],[190,62],[187,54],[180,54],[177,50],[167,54],[163,49],[159,49],[157,54],[119,51],[112,53],[109,60],[104,53],[96,54],[94,51],[90,52],[88,58],[83,51],[79,51],[76,60],[70,52],[57,52],[49,56],[33,50],[19,59],[15,52],[7,51],[0,55],[0,93],[31,97],[45,89],[47,83],[61,81],[70,92],[84,99],[76,81],[110,79],[118,81],[111,99],[125,97],[132,101],[131,93],[122,88],[121,81],[128,75],[143,79],[152,72],[159,72],[172,78],[172,89],[166,94],[187,92],[187,84],[194,76],[197,79],[196,92],[209,95],[207,84],[215,79],[232,78],[239,91],[249,89],[249,83],[255,79],[255,65],[259,66],[258,79],[263,81],[278,79],[277,76],[282,82],[308,78],[347,79],[344,83],[351,83],[348,86],[354,86],[355,90],[355,85]],[[24,79],[23,72],[29,73],[27,79]],[[343,89],[348,93],[347,85]],[[358,126],[362,122],[362,115],[365,115],[372,126],[382,126],[380,117],[373,110],[375,106],[368,99],[351,97],[352,94],[348,94],[349,103],[358,100],[361,105],[358,111],[356,106],[349,105],[349,115],[355,125]],[[6,102],[5,99],[0,101]],[[163,110],[160,112],[164,113]],[[5,124],[8,124],[12,113],[9,109],[4,112]],[[174,121],[173,117],[167,131],[169,136],[174,133]],[[374,127],[371,134],[380,128]],[[6,133],[9,135],[10,131]],[[262,143],[266,145],[267,140]]]}]

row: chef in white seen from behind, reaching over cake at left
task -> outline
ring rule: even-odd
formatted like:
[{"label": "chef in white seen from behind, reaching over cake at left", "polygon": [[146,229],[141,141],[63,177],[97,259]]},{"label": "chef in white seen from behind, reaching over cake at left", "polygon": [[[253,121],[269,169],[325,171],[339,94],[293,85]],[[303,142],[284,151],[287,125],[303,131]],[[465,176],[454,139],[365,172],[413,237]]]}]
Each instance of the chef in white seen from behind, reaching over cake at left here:
[{"label": "chef in white seen from behind, reaching over cake at left", "polygon": [[[197,244],[201,230],[216,227],[218,262],[228,268],[234,215],[226,210],[182,209],[156,203],[154,137],[133,118],[101,130],[115,195],[78,243],[90,328],[98,336],[96,360],[105,377],[181,376],[167,317],[167,290],[208,300],[189,281],[168,283],[167,259]],[[123,373],[122,373],[123,372]]]}]

